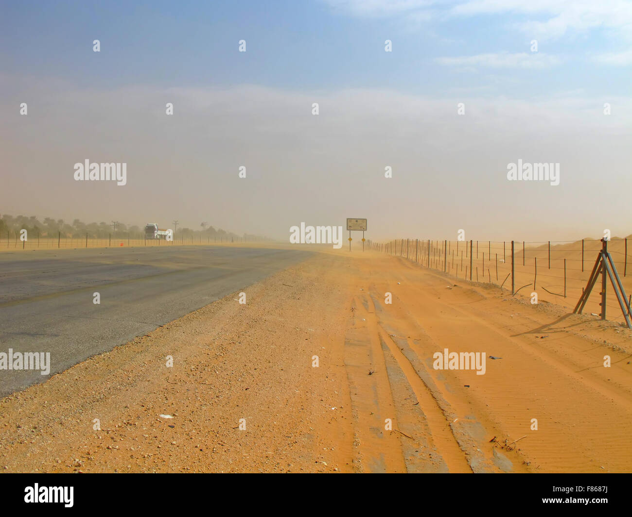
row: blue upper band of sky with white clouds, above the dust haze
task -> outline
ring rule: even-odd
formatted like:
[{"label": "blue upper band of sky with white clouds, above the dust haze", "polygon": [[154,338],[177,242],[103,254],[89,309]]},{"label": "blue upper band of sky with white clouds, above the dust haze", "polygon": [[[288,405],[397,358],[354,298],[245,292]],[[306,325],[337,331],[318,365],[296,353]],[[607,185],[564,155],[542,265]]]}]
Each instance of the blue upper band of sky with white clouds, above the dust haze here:
[{"label": "blue upper band of sky with white clouds, above the dust haze", "polygon": [[[544,4],[560,7],[539,10],[538,3],[522,2],[533,4],[529,16],[521,9],[482,7],[478,11],[489,12],[451,14],[455,6],[476,2],[4,3],[0,38],[11,52],[3,52],[2,66],[12,73],[72,78],[77,85],[252,83],[312,90],[394,88],[432,95],[480,88],[488,95],[521,98],[578,88],[591,95],[628,93],[632,57],[628,66],[612,66],[603,56],[629,53],[629,9],[627,18],[622,15],[617,23],[602,15],[604,20],[590,26],[574,19],[572,6],[581,3],[550,1]],[[380,9],[380,4],[411,7]],[[598,16],[598,5],[605,5],[586,4],[593,7],[585,18]],[[563,33],[523,27],[555,19],[565,5],[570,12],[564,23],[570,25]],[[93,39],[102,41],[99,59],[85,44]],[[246,40],[248,51],[236,61],[233,50],[240,39]],[[387,39],[393,42],[390,54],[384,52]],[[556,64],[472,70],[437,62],[443,57],[531,54],[533,39],[538,40],[538,54],[556,59]]]}]

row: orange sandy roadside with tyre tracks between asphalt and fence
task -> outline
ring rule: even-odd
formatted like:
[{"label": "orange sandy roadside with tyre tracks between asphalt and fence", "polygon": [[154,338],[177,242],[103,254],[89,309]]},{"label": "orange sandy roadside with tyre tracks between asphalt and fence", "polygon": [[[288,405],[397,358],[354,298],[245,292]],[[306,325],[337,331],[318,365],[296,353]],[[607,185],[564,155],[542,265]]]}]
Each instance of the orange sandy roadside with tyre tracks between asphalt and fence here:
[{"label": "orange sandy roadside with tyre tracks between asphalt and fence", "polygon": [[1,400],[0,470],[632,472],[632,332],[594,307],[344,248],[243,291]]}]

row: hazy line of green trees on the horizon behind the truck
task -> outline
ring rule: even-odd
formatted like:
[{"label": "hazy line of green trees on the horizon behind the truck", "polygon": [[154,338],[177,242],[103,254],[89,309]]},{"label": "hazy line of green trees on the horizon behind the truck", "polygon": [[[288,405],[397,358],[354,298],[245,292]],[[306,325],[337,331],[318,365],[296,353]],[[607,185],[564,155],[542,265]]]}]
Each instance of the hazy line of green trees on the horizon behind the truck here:
[{"label": "hazy line of green trees on the horizon behind the truck", "polygon": [[[169,226],[160,225],[161,228],[169,228]],[[145,237],[145,225],[131,225],[128,226],[125,223],[116,222],[116,228],[112,223],[100,222],[100,223],[84,223],[80,219],[74,219],[72,223],[67,223],[63,219],[52,219],[50,217],[44,218],[40,221],[37,216],[31,215],[18,215],[13,217],[12,215],[4,214],[0,218],[0,237],[2,235],[16,235],[20,233],[20,230],[27,230],[29,237],[58,237],[62,239],[80,239],[88,234],[91,239],[107,239],[110,235],[112,237],[129,237],[130,239],[143,239]],[[61,235],[60,235],[61,234]],[[268,241],[266,237],[259,235],[243,234],[237,235],[233,232],[226,232],[225,230],[215,229],[212,226],[207,226],[202,230],[192,230],[190,228],[178,228],[175,232],[176,242],[184,237],[185,239],[191,239],[193,242],[196,238],[202,238],[202,242],[209,241]]]}]

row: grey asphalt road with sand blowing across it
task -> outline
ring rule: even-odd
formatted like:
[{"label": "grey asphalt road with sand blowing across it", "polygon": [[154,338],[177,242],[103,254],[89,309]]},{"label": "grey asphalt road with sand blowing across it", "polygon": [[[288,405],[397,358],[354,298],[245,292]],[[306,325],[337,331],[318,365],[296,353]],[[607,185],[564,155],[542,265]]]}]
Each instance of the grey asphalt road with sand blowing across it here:
[{"label": "grey asphalt road with sand blowing across it", "polygon": [[310,254],[218,246],[0,253],[0,352],[51,353],[47,376],[0,369],[0,396],[45,381]]}]

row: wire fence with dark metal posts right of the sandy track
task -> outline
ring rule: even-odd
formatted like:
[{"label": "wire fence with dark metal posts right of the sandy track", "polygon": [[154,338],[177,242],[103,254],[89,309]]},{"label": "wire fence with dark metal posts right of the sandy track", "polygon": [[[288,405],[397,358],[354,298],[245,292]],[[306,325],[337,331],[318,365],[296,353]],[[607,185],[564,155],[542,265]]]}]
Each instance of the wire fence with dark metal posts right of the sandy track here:
[{"label": "wire fence with dark metal posts right of the sandy track", "polygon": [[[374,251],[407,258],[455,278],[504,287],[513,295],[532,297],[535,292],[538,301],[574,308],[586,288],[602,242],[593,239],[535,242],[397,239],[370,241],[369,246]],[[628,249],[628,239],[611,239],[607,246],[624,290],[632,293],[632,249]],[[600,282],[598,286],[590,293],[584,313],[601,315]],[[632,294],[626,302],[629,309]],[[605,318],[624,321],[610,283],[606,289]]]}]

